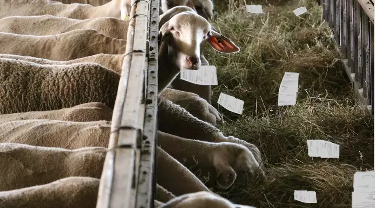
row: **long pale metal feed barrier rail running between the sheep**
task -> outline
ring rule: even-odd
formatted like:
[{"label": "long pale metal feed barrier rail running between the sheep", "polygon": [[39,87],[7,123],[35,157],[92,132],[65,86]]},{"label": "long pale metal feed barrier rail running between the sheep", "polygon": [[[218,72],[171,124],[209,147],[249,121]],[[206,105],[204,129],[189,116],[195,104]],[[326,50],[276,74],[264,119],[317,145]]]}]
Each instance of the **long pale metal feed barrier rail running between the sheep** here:
[{"label": "long pale metal feed barrier rail running between the sheep", "polygon": [[154,206],[159,0],[131,8],[97,208]]}]

